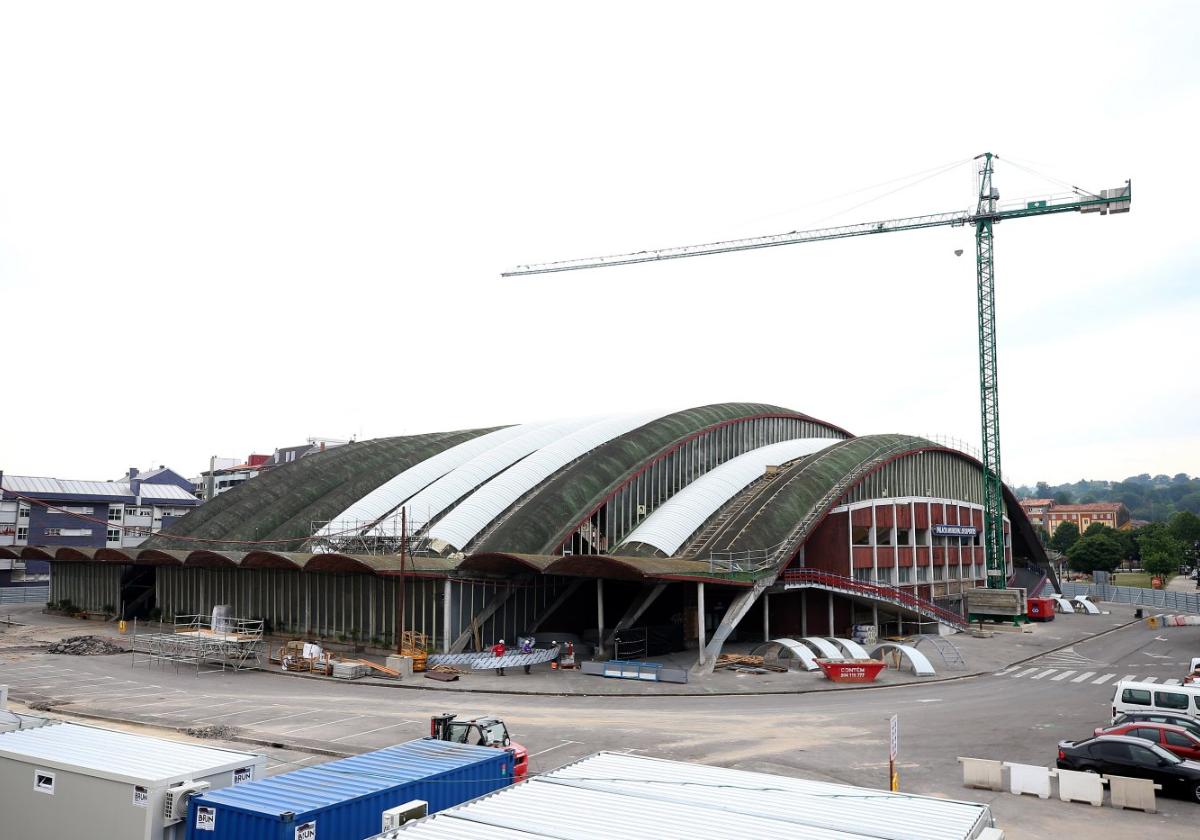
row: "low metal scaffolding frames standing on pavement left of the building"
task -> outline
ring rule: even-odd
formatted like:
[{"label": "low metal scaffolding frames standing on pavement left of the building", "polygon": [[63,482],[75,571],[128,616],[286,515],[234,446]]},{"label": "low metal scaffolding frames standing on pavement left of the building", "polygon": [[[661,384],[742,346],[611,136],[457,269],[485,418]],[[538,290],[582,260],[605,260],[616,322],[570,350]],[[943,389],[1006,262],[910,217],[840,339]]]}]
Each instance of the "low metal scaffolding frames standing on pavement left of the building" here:
[{"label": "low metal scaffolding frames standing on pavement left of the building", "polygon": [[131,664],[174,665],[196,673],[254,671],[263,667],[263,620],[209,616],[176,616],[172,632],[143,632],[133,628]]}]

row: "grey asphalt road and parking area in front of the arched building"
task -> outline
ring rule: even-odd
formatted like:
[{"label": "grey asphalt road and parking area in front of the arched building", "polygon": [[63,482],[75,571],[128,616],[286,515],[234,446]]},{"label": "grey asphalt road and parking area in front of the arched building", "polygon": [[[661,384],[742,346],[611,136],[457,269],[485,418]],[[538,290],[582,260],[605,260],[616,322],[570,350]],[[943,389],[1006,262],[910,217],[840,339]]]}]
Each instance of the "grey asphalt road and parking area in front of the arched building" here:
[{"label": "grey asphalt road and parking area in front of the arched building", "polygon": [[1159,814],[1146,815],[961,786],[958,756],[1052,766],[1060,739],[1108,722],[1118,679],[1178,679],[1200,652],[1200,628],[1150,630],[1128,624],[1127,607],[1111,610],[973,640],[986,648],[974,656],[989,662],[984,672],[857,691],[797,694],[822,679],[810,673],[769,677],[790,694],[763,694],[772,690],[763,683],[760,692],[712,696],[418,691],[268,672],[197,676],[133,666],[127,655],[52,656],[31,644],[6,652],[2,641],[0,682],[14,698],[50,702],[61,714],[228,727],[244,748],[274,751],[275,772],[421,737],[431,714],[454,712],[503,716],[534,772],[616,750],[882,787],[887,719],[898,714],[901,790],[986,802],[1009,838],[1194,836],[1200,805],[1192,803],[1160,799]]}]

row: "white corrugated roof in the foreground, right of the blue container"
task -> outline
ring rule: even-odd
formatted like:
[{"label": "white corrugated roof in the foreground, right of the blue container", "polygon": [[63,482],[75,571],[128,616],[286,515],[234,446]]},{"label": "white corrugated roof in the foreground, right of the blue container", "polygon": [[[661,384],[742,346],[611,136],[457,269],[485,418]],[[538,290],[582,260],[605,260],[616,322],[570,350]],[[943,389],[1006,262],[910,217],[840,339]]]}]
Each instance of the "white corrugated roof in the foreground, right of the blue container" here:
[{"label": "white corrugated roof in the foreground, right of the blue container", "polygon": [[600,752],[384,836],[403,840],[970,840],[972,802]]}]

